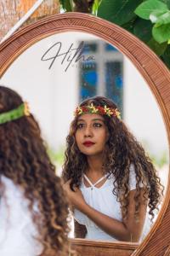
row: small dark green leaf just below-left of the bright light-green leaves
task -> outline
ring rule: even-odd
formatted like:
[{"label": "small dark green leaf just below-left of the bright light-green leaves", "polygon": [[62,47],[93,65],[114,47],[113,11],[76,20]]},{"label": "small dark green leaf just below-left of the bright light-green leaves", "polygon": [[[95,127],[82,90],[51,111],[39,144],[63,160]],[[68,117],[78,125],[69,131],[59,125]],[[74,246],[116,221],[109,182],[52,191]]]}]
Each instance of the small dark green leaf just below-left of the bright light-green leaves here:
[{"label": "small dark green leaf just below-left of the bright light-green leaves", "polygon": [[152,23],[150,20],[136,19],[133,26],[133,34],[145,43],[152,38]]}]

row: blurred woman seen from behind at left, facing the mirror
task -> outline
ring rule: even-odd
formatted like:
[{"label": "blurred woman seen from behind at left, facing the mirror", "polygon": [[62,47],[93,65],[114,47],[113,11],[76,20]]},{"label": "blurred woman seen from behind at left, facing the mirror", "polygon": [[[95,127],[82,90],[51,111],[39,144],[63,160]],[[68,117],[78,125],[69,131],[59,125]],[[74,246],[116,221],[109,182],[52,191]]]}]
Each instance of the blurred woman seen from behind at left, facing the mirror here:
[{"label": "blurred woman seen from behind at left, facing the mirror", "polygon": [[68,204],[40,129],[0,86],[0,255],[67,255]]}]

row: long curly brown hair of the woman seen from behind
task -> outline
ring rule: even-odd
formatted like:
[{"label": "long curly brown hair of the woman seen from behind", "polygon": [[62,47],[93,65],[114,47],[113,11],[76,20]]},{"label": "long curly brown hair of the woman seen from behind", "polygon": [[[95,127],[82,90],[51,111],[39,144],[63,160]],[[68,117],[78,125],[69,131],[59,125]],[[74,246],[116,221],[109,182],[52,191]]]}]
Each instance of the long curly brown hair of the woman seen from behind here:
[{"label": "long curly brown hair of the woman seen from behind", "polygon": [[[0,86],[0,113],[18,108],[22,103],[14,90]],[[68,202],[32,115],[0,125],[0,185],[3,187],[2,175],[24,191],[37,227],[36,239],[42,244],[40,255],[67,255]]]}]

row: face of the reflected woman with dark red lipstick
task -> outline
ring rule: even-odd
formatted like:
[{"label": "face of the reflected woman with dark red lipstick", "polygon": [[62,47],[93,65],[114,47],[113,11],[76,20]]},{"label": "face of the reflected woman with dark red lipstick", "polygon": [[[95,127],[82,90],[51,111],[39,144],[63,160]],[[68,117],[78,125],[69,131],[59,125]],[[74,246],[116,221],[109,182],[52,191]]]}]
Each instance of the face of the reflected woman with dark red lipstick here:
[{"label": "face of the reflected woman with dark red lipstick", "polygon": [[109,133],[104,118],[97,113],[85,113],[77,120],[77,147],[87,156],[103,153]]}]

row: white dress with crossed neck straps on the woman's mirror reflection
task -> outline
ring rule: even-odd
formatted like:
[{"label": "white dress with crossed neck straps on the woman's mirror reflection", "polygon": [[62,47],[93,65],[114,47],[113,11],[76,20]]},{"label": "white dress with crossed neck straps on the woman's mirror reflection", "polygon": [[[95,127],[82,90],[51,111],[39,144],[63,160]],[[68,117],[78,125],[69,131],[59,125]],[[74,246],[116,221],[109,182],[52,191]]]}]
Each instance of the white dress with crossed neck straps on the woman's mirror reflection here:
[{"label": "white dress with crossed neck straps on the woman's mirror reflection", "polygon": [[[88,203],[90,207],[93,207],[95,210],[104,213],[111,218],[115,218],[116,220],[122,221],[122,212],[121,212],[121,205],[120,202],[116,201],[116,195],[113,195],[113,180],[114,177],[111,174],[110,177],[107,177],[105,183],[100,187],[96,188],[95,185],[99,183],[103,178],[99,179],[97,183],[91,183],[88,177],[84,176],[88,183],[91,185],[90,187],[86,187],[83,183],[80,186],[82,191],[82,195],[84,200]],[[140,184],[142,187],[142,184]],[[129,172],[129,188],[130,190],[136,189],[136,177],[133,166],[130,167]],[[79,224],[83,224],[86,226],[87,229],[87,239],[93,240],[110,240],[110,241],[117,241],[115,237],[108,235],[105,233],[104,230],[101,230],[94,222],[89,219],[85,214],[75,209],[74,211],[74,218],[77,220]],[[150,231],[150,218],[148,213],[146,213],[146,218],[144,222],[144,228],[142,232],[142,236],[140,240],[144,239],[144,236],[148,234]]]}]

